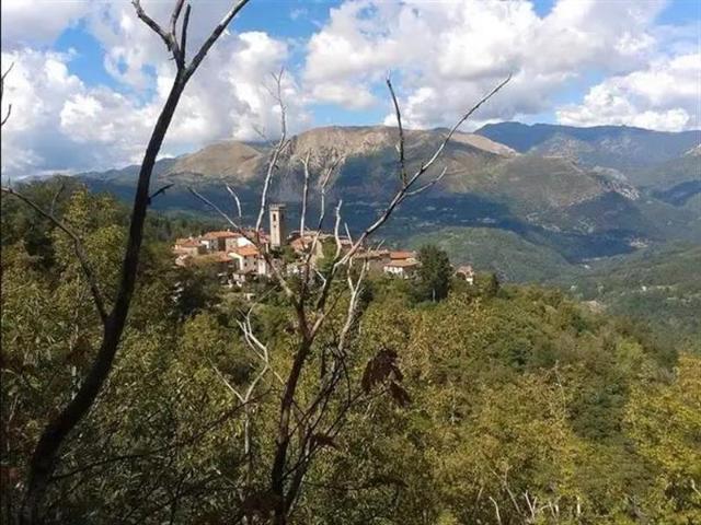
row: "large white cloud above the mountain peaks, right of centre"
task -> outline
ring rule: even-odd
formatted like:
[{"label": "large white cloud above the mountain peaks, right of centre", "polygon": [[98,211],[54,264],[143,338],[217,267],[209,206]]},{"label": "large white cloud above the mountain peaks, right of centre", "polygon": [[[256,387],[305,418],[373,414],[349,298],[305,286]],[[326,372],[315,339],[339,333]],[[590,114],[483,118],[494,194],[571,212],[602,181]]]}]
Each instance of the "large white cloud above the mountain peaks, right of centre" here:
[{"label": "large white cloud above the mountain peaks, right of centre", "polygon": [[387,101],[371,98],[372,86],[392,70],[406,125],[425,128],[450,124],[512,72],[478,118],[518,118],[552,109],[553,96],[588,70],[643,67],[664,5],[560,0],[540,16],[529,1],[348,1],[310,38],[303,80],[317,101],[355,108],[358,89],[364,105]]}]

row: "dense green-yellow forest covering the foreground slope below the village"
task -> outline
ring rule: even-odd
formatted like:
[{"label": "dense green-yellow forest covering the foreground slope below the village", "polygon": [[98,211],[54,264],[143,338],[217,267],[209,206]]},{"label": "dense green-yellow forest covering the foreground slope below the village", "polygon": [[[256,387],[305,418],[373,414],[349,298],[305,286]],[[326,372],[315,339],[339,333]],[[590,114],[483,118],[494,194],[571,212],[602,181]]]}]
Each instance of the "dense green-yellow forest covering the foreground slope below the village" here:
[{"label": "dense green-yellow forest covering the foreground slope below the village", "polygon": [[[113,301],[123,205],[70,179],[22,191],[78,232]],[[2,195],[1,225],[5,522],[102,325],[70,237],[12,195]],[[148,219],[114,369],[61,450],[46,522],[266,523],[295,308],[272,282],[251,284],[249,303],[206,269],[174,267],[172,240],[207,225]],[[493,275],[468,285],[439,248],[421,255],[430,264],[416,280],[365,281],[338,395],[322,411],[332,341],[346,334],[348,292],[336,291],[298,390],[324,419],[295,416],[309,468],[295,476],[290,466],[290,523],[701,523],[693,338],[660,346],[645,326],[561,291]],[[251,332],[266,343],[264,365]]]}]

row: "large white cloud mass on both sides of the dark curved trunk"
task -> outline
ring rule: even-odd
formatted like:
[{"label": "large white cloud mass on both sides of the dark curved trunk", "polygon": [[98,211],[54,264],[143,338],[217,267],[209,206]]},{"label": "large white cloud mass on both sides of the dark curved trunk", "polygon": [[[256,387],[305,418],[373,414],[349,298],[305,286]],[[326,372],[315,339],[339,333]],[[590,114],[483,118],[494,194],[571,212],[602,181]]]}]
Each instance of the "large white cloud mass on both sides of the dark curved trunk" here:
[{"label": "large white cloud mass on both sides of the dark curved trunk", "polygon": [[[163,2],[143,4],[153,8],[154,18],[168,20]],[[85,26],[105,46],[106,70],[126,89],[87,85],[70,73],[74,58],[70,52],[20,43],[8,46],[2,63],[15,67],[5,88],[5,103],[12,103],[13,112],[2,132],[3,177],[104,170],[138,162],[142,155],[174,66],[162,42],[136,19],[130,5],[91,5],[93,11],[83,13]],[[193,10],[191,57],[218,22],[220,13],[214,11]],[[222,35],[191,80],[162,153],[191,152],[221,139],[258,139],[261,129],[275,138],[279,107],[271,96],[271,72],[279,71],[288,52],[285,42],[266,33]],[[291,131],[308,126],[310,117],[291,75],[284,78],[283,94]]]}]

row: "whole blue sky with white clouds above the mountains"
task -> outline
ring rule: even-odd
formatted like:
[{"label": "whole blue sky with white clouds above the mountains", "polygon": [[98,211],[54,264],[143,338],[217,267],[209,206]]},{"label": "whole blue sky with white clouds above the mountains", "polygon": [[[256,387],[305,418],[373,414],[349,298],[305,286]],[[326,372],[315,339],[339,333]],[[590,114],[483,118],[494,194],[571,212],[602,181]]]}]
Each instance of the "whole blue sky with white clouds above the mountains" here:
[{"label": "whole blue sky with white clouds above the mountains", "polygon": [[[233,0],[192,0],[189,56]],[[142,0],[164,25],[172,0]],[[174,77],[128,0],[2,0],[2,176],[138,163]],[[193,77],[162,154],[279,133],[449,126],[509,73],[466,126],[518,120],[701,127],[697,0],[251,0]]]}]

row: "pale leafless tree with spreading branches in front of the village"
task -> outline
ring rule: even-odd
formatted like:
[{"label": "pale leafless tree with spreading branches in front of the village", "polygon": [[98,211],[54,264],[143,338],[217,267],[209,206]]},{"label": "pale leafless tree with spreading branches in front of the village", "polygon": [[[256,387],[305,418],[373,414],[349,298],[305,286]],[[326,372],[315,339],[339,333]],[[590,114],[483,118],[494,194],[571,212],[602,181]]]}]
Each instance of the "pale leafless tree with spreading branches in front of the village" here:
[{"label": "pale leafless tree with spreading branches in front of the village", "polygon": [[[389,349],[381,349],[372,358],[365,369],[365,374],[360,385],[352,385],[347,370],[347,358],[350,351],[350,340],[354,328],[357,325],[360,311],[360,296],[364,279],[367,273],[367,262],[361,262],[358,255],[367,247],[370,237],[375,234],[392,215],[394,210],[406,199],[412,198],[428,190],[438,184],[446,174],[444,168],[437,174],[429,175],[432,166],[436,164],[446,145],[453,133],[482,104],[498,92],[509,80],[507,78],[492,90],[486,96],[478,102],[472,108],[461,116],[455,126],[446,133],[433,154],[425,160],[420,160],[418,168],[411,173],[405,159],[405,136],[402,126],[401,110],[394,94],[394,89],[390,79],[387,85],[393,102],[397,122],[399,128],[398,142],[398,166],[399,187],[393,197],[381,210],[377,219],[355,238],[350,237],[347,225],[343,222],[342,207],[340,200],[333,211],[333,238],[335,241],[335,253],[325,272],[320,272],[313,265],[312,255],[315,254],[320,241],[320,232],[326,222],[326,189],[333,173],[342,163],[342,159],[335,158],[326,163],[326,167],[321,170],[318,179],[319,187],[319,209],[320,214],[317,222],[317,230],[307,236],[307,212],[311,175],[311,151],[301,152],[300,162],[303,167],[303,187],[301,194],[301,217],[300,235],[304,254],[301,256],[299,287],[291,287],[288,278],[281,268],[278,268],[273,255],[264,243],[261,242],[260,229],[262,219],[268,206],[268,195],[278,161],[283,153],[289,148],[286,128],[286,112],[281,100],[281,74],[275,78],[277,82],[276,102],[280,107],[281,135],[277,144],[272,149],[267,171],[263,180],[261,202],[257,210],[257,220],[253,232],[245,230],[214,202],[202,196],[195,189],[191,191],[216,210],[234,230],[251,241],[265,258],[266,264],[272,269],[273,277],[279,288],[284,291],[287,300],[291,304],[296,316],[296,347],[291,355],[289,372],[280,377],[276,374],[276,380],[280,383],[279,412],[277,430],[275,435],[275,448],[273,463],[269,466],[268,487],[263,491],[250,494],[250,501],[244,502],[244,509],[250,514],[272,515],[273,523],[284,525],[288,523],[289,515],[300,495],[304,477],[309,470],[311,462],[317,453],[324,446],[332,446],[334,438],[338,434],[345,422],[348,411],[364,398],[374,394],[388,392],[400,402],[406,402],[406,393],[401,388],[399,381],[401,373],[395,363],[397,354]],[[231,188],[228,188],[232,196],[235,196]],[[240,209],[240,203],[237,201]],[[342,231],[343,226],[343,231]],[[345,232],[345,234],[343,233]],[[341,277],[345,277],[345,291],[338,291],[334,284],[340,284]],[[340,305],[345,304],[345,311],[340,312]],[[246,319],[250,319],[251,313]],[[341,317],[341,329],[332,329],[331,340],[324,337],[320,341],[322,329],[330,324],[337,322]],[[332,320],[333,319],[333,320]],[[251,392],[260,384],[263,374],[271,370],[269,349],[267,345],[256,338],[253,334],[250,320],[241,326],[244,339],[251,349],[264,362],[264,366],[250,384],[245,395],[235,393],[239,399],[250,397]],[[320,357],[319,381],[315,394],[307,397],[306,400],[299,395],[299,385],[304,373],[304,368],[312,355]],[[345,388],[342,388],[345,384]],[[245,397],[244,397],[245,396]],[[246,447],[250,447],[250,435],[245,435]]]}]

